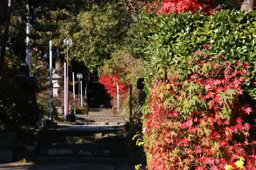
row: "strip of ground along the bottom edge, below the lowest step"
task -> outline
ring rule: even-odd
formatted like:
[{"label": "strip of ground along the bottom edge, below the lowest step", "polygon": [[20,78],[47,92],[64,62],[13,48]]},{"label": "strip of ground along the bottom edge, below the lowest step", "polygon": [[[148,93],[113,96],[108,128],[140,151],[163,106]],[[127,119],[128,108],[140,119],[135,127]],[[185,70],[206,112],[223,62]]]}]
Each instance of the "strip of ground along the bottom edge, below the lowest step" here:
[{"label": "strip of ground along the bottom edge, below the lowest step", "polygon": [[0,170],[134,170],[133,166],[113,166],[99,164],[62,164],[62,165],[33,165],[33,164],[0,164]]}]

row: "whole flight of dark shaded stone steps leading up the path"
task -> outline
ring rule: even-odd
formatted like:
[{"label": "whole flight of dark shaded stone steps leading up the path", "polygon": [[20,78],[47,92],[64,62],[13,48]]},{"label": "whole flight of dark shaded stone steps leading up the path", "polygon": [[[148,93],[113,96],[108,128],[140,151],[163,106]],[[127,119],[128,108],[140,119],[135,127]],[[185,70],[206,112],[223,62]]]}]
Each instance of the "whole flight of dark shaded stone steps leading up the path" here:
[{"label": "whole flight of dark shaded stone steps leading up the path", "polygon": [[116,127],[59,126],[40,132],[37,164],[128,164],[124,129]]}]

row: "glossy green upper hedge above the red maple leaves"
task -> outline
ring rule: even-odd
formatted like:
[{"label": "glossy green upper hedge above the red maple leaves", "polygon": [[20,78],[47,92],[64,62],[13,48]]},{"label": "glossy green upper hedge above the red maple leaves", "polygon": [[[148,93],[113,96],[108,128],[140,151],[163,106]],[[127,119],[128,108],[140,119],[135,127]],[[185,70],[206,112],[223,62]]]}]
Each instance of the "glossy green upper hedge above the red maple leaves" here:
[{"label": "glossy green upper hedge above the red maple leaves", "polygon": [[[148,23],[158,22],[157,27],[152,24],[154,30],[145,32],[144,35],[152,38],[144,53],[147,60],[147,85],[150,85],[151,78],[163,77],[170,65],[175,69],[189,70],[188,61],[195,58],[193,53],[199,50],[203,52],[204,45],[209,45],[210,49],[203,52],[205,55],[221,55],[231,63],[241,61],[250,64],[248,78],[251,81],[246,84],[245,89],[256,98],[255,12],[222,10],[210,16],[200,13],[143,15]],[[138,27],[145,27],[142,23]],[[184,71],[180,79],[192,71]]]}]

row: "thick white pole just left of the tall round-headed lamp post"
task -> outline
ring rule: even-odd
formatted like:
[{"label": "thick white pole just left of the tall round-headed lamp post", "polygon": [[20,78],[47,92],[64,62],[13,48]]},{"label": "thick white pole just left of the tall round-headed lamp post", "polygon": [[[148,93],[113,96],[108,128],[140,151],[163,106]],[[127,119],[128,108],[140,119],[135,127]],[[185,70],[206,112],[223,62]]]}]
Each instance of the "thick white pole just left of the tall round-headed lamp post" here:
[{"label": "thick white pole just left of the tall round-headed lamp post", "polygon": [[50,40],[50,120],[53,121],[52,40]]}]

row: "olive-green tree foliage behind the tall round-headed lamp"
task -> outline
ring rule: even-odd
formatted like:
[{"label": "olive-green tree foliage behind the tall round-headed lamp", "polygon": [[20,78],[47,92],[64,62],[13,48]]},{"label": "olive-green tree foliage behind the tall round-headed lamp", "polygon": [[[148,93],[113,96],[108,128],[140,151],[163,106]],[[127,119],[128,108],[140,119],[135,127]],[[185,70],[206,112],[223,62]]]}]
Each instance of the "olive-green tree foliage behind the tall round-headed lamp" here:
[{"label": "olive-green tree foliage behind the tall round-headed lamp", "polygon": [[65,49],[63,37],[70,37],[70,59],[98,68],[117,49],[130,22],[129,13],[116,3],[93,4],[76,12],[51,11],[55,24],[53,43]]}]

